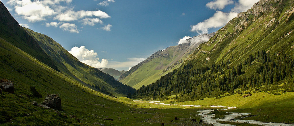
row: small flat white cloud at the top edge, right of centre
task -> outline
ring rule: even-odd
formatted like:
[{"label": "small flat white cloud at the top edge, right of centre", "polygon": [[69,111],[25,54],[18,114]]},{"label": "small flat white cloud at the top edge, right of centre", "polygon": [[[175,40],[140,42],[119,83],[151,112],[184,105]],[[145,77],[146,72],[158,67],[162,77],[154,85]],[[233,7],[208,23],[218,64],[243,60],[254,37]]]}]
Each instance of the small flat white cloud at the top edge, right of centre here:
[{"label": "small flat white cloud at the top edge, right of centre", "polygon": [[234,1],[232,1],[232,0],[214,0],[214,1],[207,3],[205,6],[210,9],[214,9],[214,10],[216,10],[216,9],[222,10],[223,8],[225,8],[225,6],[227,6],[229,4],[234,4]]}]

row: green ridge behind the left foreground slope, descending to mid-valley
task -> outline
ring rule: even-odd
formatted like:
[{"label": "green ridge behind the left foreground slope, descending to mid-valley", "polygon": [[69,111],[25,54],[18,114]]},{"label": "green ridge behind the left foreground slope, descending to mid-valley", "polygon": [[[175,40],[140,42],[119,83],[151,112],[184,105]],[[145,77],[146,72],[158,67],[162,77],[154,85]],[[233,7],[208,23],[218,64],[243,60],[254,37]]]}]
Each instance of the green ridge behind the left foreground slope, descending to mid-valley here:
[{"label": "green ridge behind the left foreground slope, descending to mid-valley", "polygon": [[[24,28],[24,30],[26,30],[26,32],[38,42],[40,47],[54,59],[58,69],[72,79],[89,87],[98,86],[99,88],[96,89],[104,93],[109,91],[118,97],[126,96],[128,93],[133,93],[135,91],[131,87],[116,81],[112,76],[80,62],[52,38],[27,28]],[[103,89],[101,90],[100,88]],[[95,90],[95,88],[93,89]]]}]

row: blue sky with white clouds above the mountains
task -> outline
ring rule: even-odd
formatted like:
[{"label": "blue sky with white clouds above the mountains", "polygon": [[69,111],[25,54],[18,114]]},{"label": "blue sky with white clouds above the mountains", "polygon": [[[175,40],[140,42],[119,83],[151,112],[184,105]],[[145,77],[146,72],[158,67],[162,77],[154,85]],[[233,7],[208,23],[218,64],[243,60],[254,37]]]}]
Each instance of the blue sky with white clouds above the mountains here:
[{"label": "blue sky with white clouds above the mountains", "polygon": [[24,27],[81,62],[128,70],[179,40],[211,33],[258,0],[1,0]]}]

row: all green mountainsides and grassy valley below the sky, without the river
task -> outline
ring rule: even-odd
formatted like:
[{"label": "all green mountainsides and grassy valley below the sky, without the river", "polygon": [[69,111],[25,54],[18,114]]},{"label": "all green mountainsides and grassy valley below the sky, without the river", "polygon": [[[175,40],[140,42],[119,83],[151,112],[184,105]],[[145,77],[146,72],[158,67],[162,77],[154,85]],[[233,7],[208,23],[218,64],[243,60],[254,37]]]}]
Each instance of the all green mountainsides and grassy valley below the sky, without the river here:
[{"label": "all green mountainsides and grassy valley below the sky, without the river", "polygon": [[[195,125],[197,110],[216,104],[252,113],[240,117],[246,120],[293,124],[293,10],[293,0],[260,0],[215,33],[116,71],[90,67],[52,38],[19,26],[0,1],[0,84],[14,84],[12,92],[0,86],[0,125]],[[60,96],[61,109],[40,107],[50,94]],[[123,96],[203,106],[168,108]]]}]

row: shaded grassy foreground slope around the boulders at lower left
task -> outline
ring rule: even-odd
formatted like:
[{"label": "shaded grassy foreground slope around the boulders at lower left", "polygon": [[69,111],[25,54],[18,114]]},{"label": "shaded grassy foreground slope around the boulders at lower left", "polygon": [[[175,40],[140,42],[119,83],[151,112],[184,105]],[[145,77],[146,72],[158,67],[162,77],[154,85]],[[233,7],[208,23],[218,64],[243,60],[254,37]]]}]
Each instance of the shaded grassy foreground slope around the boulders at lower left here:
[{"label": "shaded grassy foreground slope around the boulders at lower left", "polygon": [[[13,81],[15,89],[14,94],[0,95],[0,125],[90,125],[97,121],[92,114],[100,113],[95,112],[94,108],[99,105],[94,104],[107,106],[98,108],[103,108],[106,111],[103,114],[109,115],[127,108],[117,100],[113,101],[114,98],[93,91],[48,67],[3,39],[0,39],[0,54],[0,78]],[[35,86],[43,97],[29,97],[30,86]],[[63,111],[60,113],[67,117],[31,104],[32,101],[41,103],[51,93],[61,97]],[[75,118],[70,118],[70,115]]]}]

